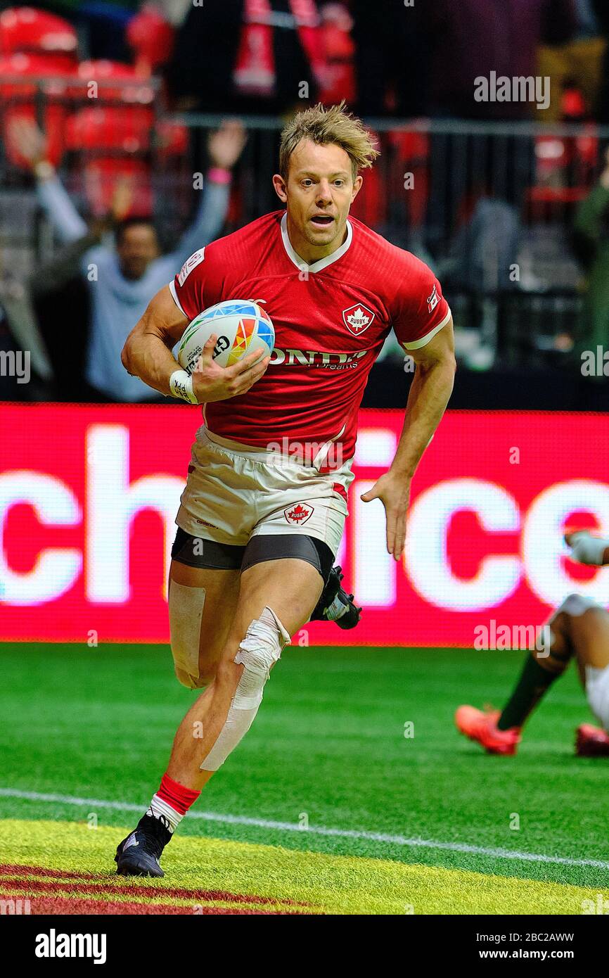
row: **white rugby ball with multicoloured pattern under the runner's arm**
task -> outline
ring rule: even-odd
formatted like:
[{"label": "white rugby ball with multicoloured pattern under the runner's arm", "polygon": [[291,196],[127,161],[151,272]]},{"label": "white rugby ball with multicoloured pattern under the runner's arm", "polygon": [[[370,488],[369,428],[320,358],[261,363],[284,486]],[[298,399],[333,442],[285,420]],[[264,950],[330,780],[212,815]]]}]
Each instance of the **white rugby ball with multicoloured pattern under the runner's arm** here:
[{"label": "white rugby ball with multicoloured pattern under the runner's arm", "polygon": [[178,346],[178,363],[192,374],[209,337],[218,337],[214,362],[231,367],[247,353],[262,349],[270,355],[275,346],[275,330],[269,314],[251,299],[228,299],[203,309],[189,323]]}]

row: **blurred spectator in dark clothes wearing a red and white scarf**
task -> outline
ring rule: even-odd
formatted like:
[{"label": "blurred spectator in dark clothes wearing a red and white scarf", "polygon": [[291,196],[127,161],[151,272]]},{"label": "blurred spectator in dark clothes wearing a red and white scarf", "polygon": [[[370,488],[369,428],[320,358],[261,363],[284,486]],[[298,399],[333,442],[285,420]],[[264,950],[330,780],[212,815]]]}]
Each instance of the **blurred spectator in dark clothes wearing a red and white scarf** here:
[{"label": "blurred spectator in dark clothes wearing a red and white scarf", "polygon": [[314,0],[205,0],[178,31],[167,68],[178,110],[277,113],[317,98]]}]

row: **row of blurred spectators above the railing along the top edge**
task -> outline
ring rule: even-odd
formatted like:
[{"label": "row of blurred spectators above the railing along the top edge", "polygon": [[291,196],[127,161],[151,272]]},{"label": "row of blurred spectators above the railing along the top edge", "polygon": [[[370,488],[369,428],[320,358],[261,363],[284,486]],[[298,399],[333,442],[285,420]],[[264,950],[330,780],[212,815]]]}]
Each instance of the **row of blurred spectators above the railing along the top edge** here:
[{"label": "row of blurred spectators above the railing along the top edge", "polygon": [[[609,120],[604,0],[43,0],[88,56],[166,82],[175,109],[282,112],[344,98],[366,116],[523,118],[473,102],[472,79],[550,75],[568,98],[545,117]],[[201,53],[204,52],[204,57]],[[450,57],[447,57],[450,53]]]}]

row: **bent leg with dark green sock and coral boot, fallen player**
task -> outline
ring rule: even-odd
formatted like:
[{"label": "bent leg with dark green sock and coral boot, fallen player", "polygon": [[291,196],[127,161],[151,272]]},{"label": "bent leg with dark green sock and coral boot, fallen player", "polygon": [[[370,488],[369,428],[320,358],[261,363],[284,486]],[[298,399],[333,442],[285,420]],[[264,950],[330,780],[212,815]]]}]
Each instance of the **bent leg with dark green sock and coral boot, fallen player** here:
[{"label": "bent leg with dark green sock and coral boot, fallen player", "polygon": [[459,706],[455,723],[460,733],[476,740],[491,754],[515,754],[521,730],[552,683],[562,676],[575,654],[572,616],[585,599],[572,595],[553,613],[542,633],[540,648],[527,656],[512,693],[500,711],[484,712],[473,706]]}]

